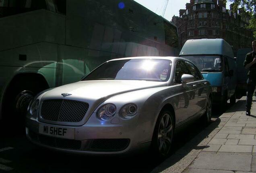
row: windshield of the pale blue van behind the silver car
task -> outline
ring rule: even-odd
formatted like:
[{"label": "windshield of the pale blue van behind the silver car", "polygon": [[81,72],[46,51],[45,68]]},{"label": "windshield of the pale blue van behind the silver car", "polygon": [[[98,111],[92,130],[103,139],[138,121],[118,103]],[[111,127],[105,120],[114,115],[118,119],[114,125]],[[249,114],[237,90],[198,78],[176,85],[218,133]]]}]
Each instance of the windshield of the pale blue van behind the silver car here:
[{"label": "windshield of the pale blue van behind the silver car", "polygon": [[182,58],[186,58],[194,64],[196,64],[197,68],[201,72],[220,72],[222,71],[222,58],[220,56],[182,56]]}]

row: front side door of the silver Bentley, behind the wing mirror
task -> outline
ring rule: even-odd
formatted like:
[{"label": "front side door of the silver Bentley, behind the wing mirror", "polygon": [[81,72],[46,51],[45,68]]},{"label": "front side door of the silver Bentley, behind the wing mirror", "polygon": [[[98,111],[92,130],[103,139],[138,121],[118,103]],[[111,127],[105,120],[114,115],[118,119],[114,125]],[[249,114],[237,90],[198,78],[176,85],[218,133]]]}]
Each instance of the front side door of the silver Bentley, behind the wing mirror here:
[{"label": "front side door of the silver Bentley, behind the wing mirror", "polygon": [[176,91],[176,97],[179,98],[176,107],[177,122],[179,122],[179,124],[184,123],[197,112],[197,110],[194,109],[195,91],[193,82],[187,83],[185,87],[181,86],[181,76],[189,73],[184,60],[178,60],[175,65],[174,84],[179,85]]}]

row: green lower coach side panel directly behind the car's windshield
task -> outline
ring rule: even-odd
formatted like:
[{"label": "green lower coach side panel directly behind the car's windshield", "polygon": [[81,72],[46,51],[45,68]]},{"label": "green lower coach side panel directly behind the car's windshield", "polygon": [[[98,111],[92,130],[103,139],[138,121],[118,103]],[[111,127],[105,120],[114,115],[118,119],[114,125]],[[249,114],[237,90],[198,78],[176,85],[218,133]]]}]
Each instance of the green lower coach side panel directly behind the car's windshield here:
[{"label": "green lower coach side panel directly behind the car's windshield", "polygon": [[58,46],[58,86],[79,81],[85,74],[116,54],[99,50]]}]

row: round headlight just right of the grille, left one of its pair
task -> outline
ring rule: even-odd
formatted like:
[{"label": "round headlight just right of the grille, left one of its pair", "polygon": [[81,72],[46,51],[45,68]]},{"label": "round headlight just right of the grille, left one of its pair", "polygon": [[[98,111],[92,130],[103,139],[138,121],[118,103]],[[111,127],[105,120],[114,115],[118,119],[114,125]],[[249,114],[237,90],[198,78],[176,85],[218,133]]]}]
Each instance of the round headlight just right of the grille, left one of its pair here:
[{"label": "round headlight just right of the grille, left one of its pair", "polygon": [[111,119],[112,117],[114,117],[115,114],[116,114],[116,105],[112,103],[103,105],[97,113],[99,119],[103,121],[107,121]]}]

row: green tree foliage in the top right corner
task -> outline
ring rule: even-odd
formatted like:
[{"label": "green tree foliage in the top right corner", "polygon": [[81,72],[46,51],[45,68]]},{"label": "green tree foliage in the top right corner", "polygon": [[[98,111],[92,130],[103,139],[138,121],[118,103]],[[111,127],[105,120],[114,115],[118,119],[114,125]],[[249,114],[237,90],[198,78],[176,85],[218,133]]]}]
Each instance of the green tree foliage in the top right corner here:
[{"label": "green tree foliage in the top right corner", "polygon": [[[227,0],[224,0],[227,2]],[[237,13],[239,8],[242,8],[247,14],[242,15],[249,15],[249,25],[247,28],[250,28],[256,38],[256,0],[228,0],[233,2],[232,11]]]}]

